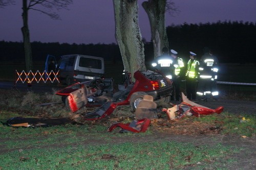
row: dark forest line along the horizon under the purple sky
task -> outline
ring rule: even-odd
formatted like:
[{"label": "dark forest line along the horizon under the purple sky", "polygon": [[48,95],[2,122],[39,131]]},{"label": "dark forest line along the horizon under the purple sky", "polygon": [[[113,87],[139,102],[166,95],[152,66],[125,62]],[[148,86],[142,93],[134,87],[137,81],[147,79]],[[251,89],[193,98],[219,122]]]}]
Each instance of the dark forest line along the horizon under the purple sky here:
[{"label": "dark forest line along the horizon under the purple sky", "polygon": [[[203,48],[210,47],[220,62],[256,62],[256,23],[225,21],[217,23],[190,24],[166,28],[169,49],[178,51],[184,60],[188,52],[203,55]],[[154,59],[152,42],[144,43],[145,63],[150,65]],[[68,44],[34,41],[31,43],[33,61],[45,61],[48,54],[59,57],[67,54],[83,54],[102,57],[107,61],[122,61],[117,44]],[[0,41],[2,61],[25,61],[23,42]]]}]

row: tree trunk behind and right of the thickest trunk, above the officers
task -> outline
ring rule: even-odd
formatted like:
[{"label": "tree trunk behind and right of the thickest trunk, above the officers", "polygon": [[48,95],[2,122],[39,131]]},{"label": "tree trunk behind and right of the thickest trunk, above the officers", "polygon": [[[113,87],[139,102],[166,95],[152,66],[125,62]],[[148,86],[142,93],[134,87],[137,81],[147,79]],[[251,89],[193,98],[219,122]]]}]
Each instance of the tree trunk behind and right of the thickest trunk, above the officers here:
[{"label": "tree trunk behind and right of the thickest trunk, above the officers", "polygon": [[154,58],[156,58],[161,55],[164,46],[168,47],[164,16],[166,0],[148,0],[143,2],[142,6],[150,19]]}]

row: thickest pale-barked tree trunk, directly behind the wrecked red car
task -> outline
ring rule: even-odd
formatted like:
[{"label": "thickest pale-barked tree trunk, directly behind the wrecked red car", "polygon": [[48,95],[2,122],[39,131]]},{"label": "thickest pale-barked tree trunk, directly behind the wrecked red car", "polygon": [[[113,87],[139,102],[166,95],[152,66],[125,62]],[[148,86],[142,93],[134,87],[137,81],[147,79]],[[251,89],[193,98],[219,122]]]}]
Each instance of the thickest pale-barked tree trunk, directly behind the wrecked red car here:
[{"label": "thickest pale-barked tree trunk, directly behind the wrecked red car", "polygon": [[137,70],[146,70],[144,44],[139,29],[137,0],[113,0],[116,22],[116,40],[125,71],[132,76]]}]

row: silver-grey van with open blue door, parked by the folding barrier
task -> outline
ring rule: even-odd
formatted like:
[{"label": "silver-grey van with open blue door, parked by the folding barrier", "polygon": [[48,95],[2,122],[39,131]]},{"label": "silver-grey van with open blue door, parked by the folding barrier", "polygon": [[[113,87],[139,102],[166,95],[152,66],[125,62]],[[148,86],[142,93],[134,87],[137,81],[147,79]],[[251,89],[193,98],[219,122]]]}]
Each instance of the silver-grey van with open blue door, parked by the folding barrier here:
[{"label": "silver-grey van with open blue door, parked by the folding barrier", "polygon": [[[48,55],[46,70],[48,70],[47,65],[52,60],[56,63],[55,57]],[[79,54],[64,55],[60,57],[58,63],[55,65],[55,71],[59,70],[59,81],[61,84],[66,83],[67,85],[71,85],[75,82],[99,79],[104,74],[104,59],[101,57]]]}]

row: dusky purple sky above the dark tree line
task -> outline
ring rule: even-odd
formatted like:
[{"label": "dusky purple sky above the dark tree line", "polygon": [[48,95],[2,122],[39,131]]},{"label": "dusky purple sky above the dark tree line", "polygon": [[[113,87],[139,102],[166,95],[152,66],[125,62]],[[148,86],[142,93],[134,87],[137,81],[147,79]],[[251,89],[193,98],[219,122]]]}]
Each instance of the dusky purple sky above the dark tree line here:
[{"label": "dusky purple sky above the dark tree line", "polygon": [[[151,39],[148,17],[139,3],[139,25],[142,37]],[[166,26],[217,21],[256,22],[255,0],[174,0],[180,13],[166,13]],[[22,41],[22,1],[0,8],[0,40]],[[29,11],[31,41],[59,43],[116,43],[112,0],[74,0],[70,10],[60,10],[61,20]]]}]

